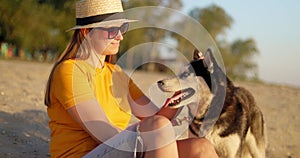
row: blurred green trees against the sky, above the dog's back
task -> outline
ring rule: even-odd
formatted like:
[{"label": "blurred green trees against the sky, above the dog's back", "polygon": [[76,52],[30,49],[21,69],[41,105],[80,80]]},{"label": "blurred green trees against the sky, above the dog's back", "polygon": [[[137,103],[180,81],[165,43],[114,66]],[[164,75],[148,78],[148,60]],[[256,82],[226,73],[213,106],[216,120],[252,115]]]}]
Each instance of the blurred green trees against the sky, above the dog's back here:
[{"label": "blurred green trees against the sky, above the dog's back", "polygon": [[228,43],[226,39],[218,38],[230,29],[233,22],[225,10],[213,4],[206,8],[192,9],[190,16],[199,21],[215,40],[227,75],[235,79],[258,79],[257,64],[253,61],[254,55],[258,54],[254,39],[237,39],[233,43]]}]

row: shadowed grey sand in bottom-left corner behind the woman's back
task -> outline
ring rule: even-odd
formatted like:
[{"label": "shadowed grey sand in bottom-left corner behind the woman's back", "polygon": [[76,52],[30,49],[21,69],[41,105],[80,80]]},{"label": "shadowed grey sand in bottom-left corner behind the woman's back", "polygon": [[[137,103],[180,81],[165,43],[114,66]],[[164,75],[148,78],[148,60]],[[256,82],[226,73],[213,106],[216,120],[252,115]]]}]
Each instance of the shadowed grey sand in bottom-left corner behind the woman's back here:
[{"label": "shadowed grey sand in bottom-left corner behind the woman's back", "polygon": [[49,157],[49,136],[44,111],[0,112],[1,158]]}]

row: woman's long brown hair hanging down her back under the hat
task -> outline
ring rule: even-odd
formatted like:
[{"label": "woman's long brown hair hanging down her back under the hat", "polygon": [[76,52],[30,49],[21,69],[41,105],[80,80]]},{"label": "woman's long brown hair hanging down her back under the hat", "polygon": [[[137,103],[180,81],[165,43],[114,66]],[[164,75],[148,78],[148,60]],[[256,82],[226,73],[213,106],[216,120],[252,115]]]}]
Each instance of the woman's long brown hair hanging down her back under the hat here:
[{"label": "woman's long brown hair hanging down her back under the hat", "polygon": [[[90,29],[88,29],[88,31],[90,31]],[[84,39],[85,39],[85,35],[82,33],[82,31],[80,31],[80,29],[75,30],[68,46],[53,65],[46,85],[45,98],[44,98],[44,104],[46,106],[50,106],[51,104],[50,91],[51,91],[51,83],[52,83],[52,78],[53,78],[55,68],[65,60],[76,59],[76,58],[87,59],[90,56],[89,51],[79,51],[79,49],[81,49],[80,47]],[[112,63],[113,59],[114,59],[113,55],[107,55],[105,61]]]}]

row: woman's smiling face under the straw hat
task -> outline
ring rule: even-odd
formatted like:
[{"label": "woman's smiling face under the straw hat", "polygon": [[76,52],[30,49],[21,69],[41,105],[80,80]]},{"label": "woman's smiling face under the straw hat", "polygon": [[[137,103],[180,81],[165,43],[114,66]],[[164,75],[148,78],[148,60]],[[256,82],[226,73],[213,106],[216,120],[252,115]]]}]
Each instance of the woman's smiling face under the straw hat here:
[{"label": "woman's smiling face under the straw hat", "polygon": [[109,37],[109,31],[106,29],[120,26],[121,25],[94,28],[90,32],[92,46],[99,55],[114,55],[118,53],[120,42],[123,40],[122,33],[117,30],[117,35],[114,38],[109,39],[111,37]]}]

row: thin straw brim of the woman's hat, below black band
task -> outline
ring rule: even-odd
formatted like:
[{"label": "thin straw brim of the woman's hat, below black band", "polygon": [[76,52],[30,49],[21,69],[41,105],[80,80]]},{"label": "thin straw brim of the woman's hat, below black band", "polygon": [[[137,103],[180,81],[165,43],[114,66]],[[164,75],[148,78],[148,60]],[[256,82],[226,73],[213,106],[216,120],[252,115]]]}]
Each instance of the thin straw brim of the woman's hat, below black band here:
[{"label": "thin straw brim of the woman's hat, below black band", "polygon": [[108,27],[112,25],[121,25],[123,23],[129,23],[129,22],[136,22],[138,20],[129,20],[129,19],[115,19],[115,20],[109,20],[109,21],[101,21],[97,23],[92,23],[88,25],[77,25],[70,29],[68,29],[66,32],[76,29],[82,29],[82,28],[96,28],[96,27]]}]

